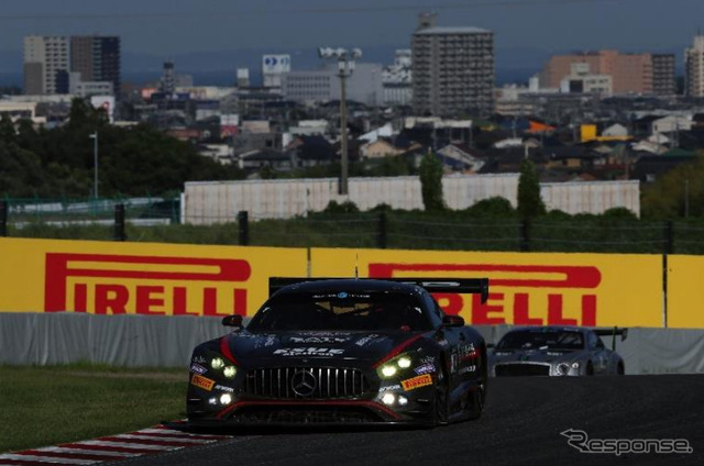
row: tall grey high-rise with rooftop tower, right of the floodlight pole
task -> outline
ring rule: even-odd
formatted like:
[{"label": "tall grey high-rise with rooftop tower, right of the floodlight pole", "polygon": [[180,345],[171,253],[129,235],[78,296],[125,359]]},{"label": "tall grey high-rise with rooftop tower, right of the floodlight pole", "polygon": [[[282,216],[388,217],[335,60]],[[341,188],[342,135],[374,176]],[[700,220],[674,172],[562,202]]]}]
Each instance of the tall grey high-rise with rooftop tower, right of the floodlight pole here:
[{"label": "tall grey high-rise with rooftop tower, right of the floodlight pole", "polygon": [[433,115],[494,111],[494,33],[436,26],[421,14],[413,36],[413,104]]}]

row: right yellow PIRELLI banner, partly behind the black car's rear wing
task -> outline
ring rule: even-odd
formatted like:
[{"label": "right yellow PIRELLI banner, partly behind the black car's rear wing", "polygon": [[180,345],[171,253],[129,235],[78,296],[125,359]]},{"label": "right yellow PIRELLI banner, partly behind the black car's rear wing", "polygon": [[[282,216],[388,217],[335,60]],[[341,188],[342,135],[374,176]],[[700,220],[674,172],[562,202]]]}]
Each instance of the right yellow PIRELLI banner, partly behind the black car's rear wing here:
[{"label": "right yellow PIRELLI banner, partly behind the black car's rear wing", "polygon": [[[312,249],[314,276],[488,277],[490,296],[435,295],[481,324],[662,326],[657,255]],[[704,292],[704,291],[703,291]]]}]

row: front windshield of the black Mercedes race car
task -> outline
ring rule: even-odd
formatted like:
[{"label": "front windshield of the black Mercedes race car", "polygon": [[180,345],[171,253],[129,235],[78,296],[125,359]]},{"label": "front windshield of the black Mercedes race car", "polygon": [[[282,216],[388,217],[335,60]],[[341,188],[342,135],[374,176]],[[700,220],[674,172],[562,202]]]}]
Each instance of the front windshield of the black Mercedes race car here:
[{"label": "front windshield of the black Mercedes race car", "polygon": [[267,301],[248,330],[365,331],[430,330],[420,300],[400,293],[300,293]]}]

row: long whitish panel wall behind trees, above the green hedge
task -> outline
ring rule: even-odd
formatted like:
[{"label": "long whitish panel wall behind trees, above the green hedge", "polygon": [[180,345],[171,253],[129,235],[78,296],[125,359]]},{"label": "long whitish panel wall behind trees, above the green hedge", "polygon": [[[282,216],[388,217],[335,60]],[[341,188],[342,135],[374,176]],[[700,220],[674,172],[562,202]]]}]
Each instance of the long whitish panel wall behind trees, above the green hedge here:
[{"label": "long whitish panel wall behind trees, above the green hedge", "polygon": [[[466,209],[495,196],[516,206],[518,174],[447,176],[443,178],[446,203],[450,209]],[[350,178],[350,195],[338,195],[337,178],[198,181],[187,182],[184,221],[209,224],[233,222],[238,211],[246,210],[256,219],[287,219],[321,211],[332,200],[351,200],[367,210],[380,203],[394,209],[422,209],[418,177]],[[638,181],[593,181],[543,184],[541,195],[549,210],[568,213],[602,213],[625,207],[640,213]]]}]

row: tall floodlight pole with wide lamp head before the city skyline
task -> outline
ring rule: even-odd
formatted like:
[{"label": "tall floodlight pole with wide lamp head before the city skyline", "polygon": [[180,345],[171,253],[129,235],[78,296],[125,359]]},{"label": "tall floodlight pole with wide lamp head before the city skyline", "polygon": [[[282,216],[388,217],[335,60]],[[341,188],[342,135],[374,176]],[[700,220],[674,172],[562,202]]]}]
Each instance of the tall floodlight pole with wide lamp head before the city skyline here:
[{"label": "tall floodlight pole with wide lamp head before the city skyline", "polygon": [[349,155],[348,155],[348,106],[346,106],[346,78],[354,71],[354,60],[362,56],[360,48],[330,48],[318,49],[320,58],[338,60],[338,78],[340,78],[340,188],[339,193],[349,195]]}]

